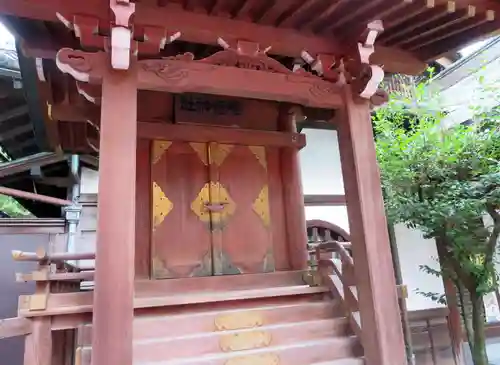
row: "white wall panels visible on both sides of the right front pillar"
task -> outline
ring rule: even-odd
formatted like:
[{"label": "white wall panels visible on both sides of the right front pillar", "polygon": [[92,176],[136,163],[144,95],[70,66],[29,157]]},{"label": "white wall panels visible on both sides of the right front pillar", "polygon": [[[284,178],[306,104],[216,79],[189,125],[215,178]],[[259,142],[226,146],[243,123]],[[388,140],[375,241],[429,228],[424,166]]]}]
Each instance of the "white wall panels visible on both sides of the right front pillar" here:
[{"label": "white wall panels visible on both sides of the right front pillar", "polygon": [[[307,145],[300,152],[304,194],[344,194],[340,153],[336,131],[304,129]],[[349,232],[346,207],[306,207],[306,219],[321,219]],[[439,268],[436,244],[425,240],[422,233],[397,225],[396,241],[402,267],[403,282],[408,286],[408,310],[428,309],[442,305],[417,294],[444,293],[441,278],[422,272],[420,265]]]}]

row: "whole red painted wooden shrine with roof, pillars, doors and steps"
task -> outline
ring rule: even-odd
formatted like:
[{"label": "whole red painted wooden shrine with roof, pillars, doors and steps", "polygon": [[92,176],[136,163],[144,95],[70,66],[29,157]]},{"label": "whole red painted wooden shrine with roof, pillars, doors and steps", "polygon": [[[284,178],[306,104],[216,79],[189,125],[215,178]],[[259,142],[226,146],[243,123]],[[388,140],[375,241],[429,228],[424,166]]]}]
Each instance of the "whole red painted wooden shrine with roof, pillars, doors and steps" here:
[{"label": "whole red painted wooden shrine with roof, pillars, doors and steps", "polygon": [[[370,108],[384,70],[418,74],[499,7],[0,0],[52,148],[99,154],[95,255],[15,254],[40,266],[12,322],[25,365],[404,364]],[[352,255],[326,237],[309,267],[297,124],[315,115],[339,132]]]}]

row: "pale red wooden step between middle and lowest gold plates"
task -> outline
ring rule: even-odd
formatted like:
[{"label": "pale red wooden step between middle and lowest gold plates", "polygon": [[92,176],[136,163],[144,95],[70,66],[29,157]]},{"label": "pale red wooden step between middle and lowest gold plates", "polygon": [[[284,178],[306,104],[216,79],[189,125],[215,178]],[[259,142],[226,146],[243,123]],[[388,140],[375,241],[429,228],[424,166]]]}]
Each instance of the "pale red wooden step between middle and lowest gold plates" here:
[{"label": "pale red wooden step between middle and lowest gold plates", "polygon": [[[164,361],[168,351],[143,353],[134,349],[134,365],[307,365],[360,356],[361,346],[353,337],[332,337],[291,345],[226,352]],[[81,365],[90,365],[90,349],[79,349]],[[343,365],[340,363],[340,365]]]}]

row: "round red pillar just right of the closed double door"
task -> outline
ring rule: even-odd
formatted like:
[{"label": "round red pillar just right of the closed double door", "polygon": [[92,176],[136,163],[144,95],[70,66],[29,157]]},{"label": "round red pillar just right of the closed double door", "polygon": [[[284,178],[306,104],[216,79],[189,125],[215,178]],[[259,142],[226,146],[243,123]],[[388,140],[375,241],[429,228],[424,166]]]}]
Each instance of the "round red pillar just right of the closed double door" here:
[{"label": "round red pillar just right of the closed double door", "polygon": [[[280,129],[297,133],[295,122],[297,110],[288,105],[280,108]],[[281,151],[281,177],[283,179],[283,199],[288,254],[292,270],[307,269],[307,225],[304,209],[304,193],[300,174],[299,151],[283,148]]]}]

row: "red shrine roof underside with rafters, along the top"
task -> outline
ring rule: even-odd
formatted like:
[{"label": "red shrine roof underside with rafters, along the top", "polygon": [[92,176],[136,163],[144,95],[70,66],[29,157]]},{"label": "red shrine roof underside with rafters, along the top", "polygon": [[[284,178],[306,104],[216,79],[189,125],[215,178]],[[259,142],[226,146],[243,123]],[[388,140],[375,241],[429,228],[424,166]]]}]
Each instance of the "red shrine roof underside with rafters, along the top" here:
[{"label": "red shrine roof underside with rafters, along the top", "polygon": [[[342,54],[369,21],[380,19],[385,31],[372,62],[417,74],[426,61],[497,31],[498,10],[494,0],[138,0],[133,24],[134,38],[146,43],[180,32],[178,40],[190,44],[249,40],[270,46],[269,54],[296,58],[302,50]],[[94,45],[104,44],[98,38],[109,33],[111,19],[108,0],[1,0],[0,13],[32,19],[17,22],[15,31],[27,53],[43,58],[78,45],[61,16],[79,17],[90,30],[85,36],[94,38],[80,41]],[[162,52],[175,53],[176,43]]]}]

